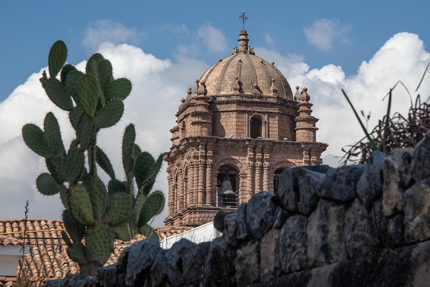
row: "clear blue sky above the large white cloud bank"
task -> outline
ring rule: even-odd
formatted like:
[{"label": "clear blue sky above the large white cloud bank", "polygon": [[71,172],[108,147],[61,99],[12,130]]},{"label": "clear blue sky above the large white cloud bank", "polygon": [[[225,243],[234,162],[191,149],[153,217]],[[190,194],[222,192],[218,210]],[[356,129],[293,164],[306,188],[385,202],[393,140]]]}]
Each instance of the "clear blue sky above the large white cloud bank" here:
[{"label": "clear blue sky above the large white cloud bank", "polygon": [[[357,72],[397,32],[420,35],[430,42],[425,0],[408,1],[2,1],[0,4],[0,100],[46,65],[47,51],[57,39],[69,47],[69,61],[78,63],[95,52],[84,43],[98,21],[112,21],[133,31],[121,40],[141,47],[159,59],[174,60],[178,47],[196,41],[201,25],[220,30],[227,46],[236,45],[245,10],[245,28],[253,45],[303,56],[311,68],[341,65]],[[305,28],[316,21],[333,21],[331,47],[323,50],[306,39]],[[272,43],[267,41],[272,39]],[[427,44],[430,45],[430,44]],[[199,50],[196,59],[210,65],[225,51]]]}]

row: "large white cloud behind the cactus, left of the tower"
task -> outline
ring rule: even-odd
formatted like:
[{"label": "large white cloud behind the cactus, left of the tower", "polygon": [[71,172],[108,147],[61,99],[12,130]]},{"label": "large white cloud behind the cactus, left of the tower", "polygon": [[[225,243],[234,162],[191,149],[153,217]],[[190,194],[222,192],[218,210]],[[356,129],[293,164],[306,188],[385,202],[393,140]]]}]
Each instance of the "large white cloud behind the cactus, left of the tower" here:
[{"label": "large white cloud behind the cactus, left of the tower", "polygon": [[[123,178],[120,154],[126,125],[135,123],[136,142],[153,156],[168,151],[174,114],[188,85],[193,85],[195,75],[201,74],[203,63],[183,59],[180,62],[183,67],[172,65],[170,61],[125,44],[103,43],[98,52],[111,61],[115,78],[126,77],[133,85],[125,101],[122,120],[115,127],[101,131],[98,138],[98,144],[113,161],[118,178]],[[84,70],[85,62],[76,67]],[[184,69],[194,76],[186,79],[174,76],[175,71]],[[21,138],[23,125],[35,123],[41,127],[48,111],[57,116],[66,146],[73,138],[67,112],[54,106],[41,87],[39,78],[43,70],[47,67],[32,74],[0,103],[0,186],[3,193],[0,217],[3,219],[23,217],[26,200],[30,201],[30,217],[60,219],[63,210],[57,196],[46,197],[36,191],[35,180],[38,174],[46,171],[45,162],[28,149]],[[167,191],[166,166],[162,167],[155,188]],[[166,214],[161,215],[155,225],[162,225],[165,217]]]}]

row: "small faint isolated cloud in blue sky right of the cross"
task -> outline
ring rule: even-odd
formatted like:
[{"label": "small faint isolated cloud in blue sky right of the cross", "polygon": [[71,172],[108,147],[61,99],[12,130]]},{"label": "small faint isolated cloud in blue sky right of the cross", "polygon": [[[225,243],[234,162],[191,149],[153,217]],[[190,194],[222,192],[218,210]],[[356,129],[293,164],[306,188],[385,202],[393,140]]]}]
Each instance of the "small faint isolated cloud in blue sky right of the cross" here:
[{"label": "small faint isolated cloud in blue sky right of the cross", "polygon": [[[340,25],[337,19],[319,19],[304,28],[306,39],[320,50],[330,50],[333,41],[342,39],[351,30],[351,25]],[[346,41],[346,39],[343,39]]]}]

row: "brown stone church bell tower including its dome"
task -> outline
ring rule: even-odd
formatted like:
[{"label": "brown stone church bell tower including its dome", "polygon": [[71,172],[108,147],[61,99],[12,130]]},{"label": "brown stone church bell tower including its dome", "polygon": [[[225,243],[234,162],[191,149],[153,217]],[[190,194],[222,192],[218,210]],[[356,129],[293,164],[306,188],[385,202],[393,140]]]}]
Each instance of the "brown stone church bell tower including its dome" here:
[{"label": "brown stone church bell tower including its dome", "polygon": [[[166,225],[198,226],[254,193],[277,190],[290,167],[321,164],[306,87],[295,95],[282,73],[256,56],[240,31],[239,48],[220,59],[181,100],[168,162]],[[223,184],[229,182],[229,193]]]}]

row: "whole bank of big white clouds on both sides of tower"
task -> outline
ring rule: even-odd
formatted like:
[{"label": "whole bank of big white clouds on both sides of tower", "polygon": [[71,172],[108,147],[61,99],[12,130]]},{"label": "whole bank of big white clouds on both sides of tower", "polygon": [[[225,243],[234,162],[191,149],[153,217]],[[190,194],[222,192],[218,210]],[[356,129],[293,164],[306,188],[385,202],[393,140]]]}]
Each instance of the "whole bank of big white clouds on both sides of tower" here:
[{"label": "whole bank of big white clouds on both sides of tower", "polygon": [[[115,172],[123,177],[120,146],[124,127],[135,123],[137,143],[154,156],[170,148],[170,129],[175,124],[174,114],[186,96],[187,87],[201,76],[207,64],[179,57],[176,61],[157,59],[133,45],[104,43],[99,51],[113,65],[115,78],[126,77],[133,83],[131,95],[126,99],[124,117],[120,123],[100,133],[98,142],[112,158]],[[301,56],[282,55],[273,50],[256,47],[256,54],[267,61],[274,61],[288,78],[291,87],[308,87],[313,116],[319,118],[317,140],[329,147],[323,153],[324,163],[339,164],[341,148],[353,144],[363,136],[357,120],[341,88],[345,89],[357,110],[372,114],[369,127],[382,118],[386,109],[383,96],[397,81],[403,81],[414,91],[425,71],[430,55],[416,34],[399,33],[389,39],[372,59],[363,61],[357,74],[346,77],[342,67],[326,65],[312,69]],[[80,69],[84,62],[79,63]],[[54,111],[60,120],[65,140],[70,141],[72,130],[67,113],[60,111],[45,95],[38,78],[41,72],[31,75],[27,82],[17,87],[9,98],[0,103],[0,217],[23,217],[23,205],[30,200],[30,217],[60,219],[63,209],[56,197],[43,197],[36,191],[34,181],[45,171],[45,163],[21,139],[25,123],[41,125],[47,111]],[[430,94],[430,79],[420,88],[420,94]],[[294,91],[293,91],[294,92]],[[403,89],[394,90],[393,111],[407,112],[409,98]],[[166,166],[157,178],[156,188],[167,191]],[[153,225],[162,225],[166,213]]]}]

